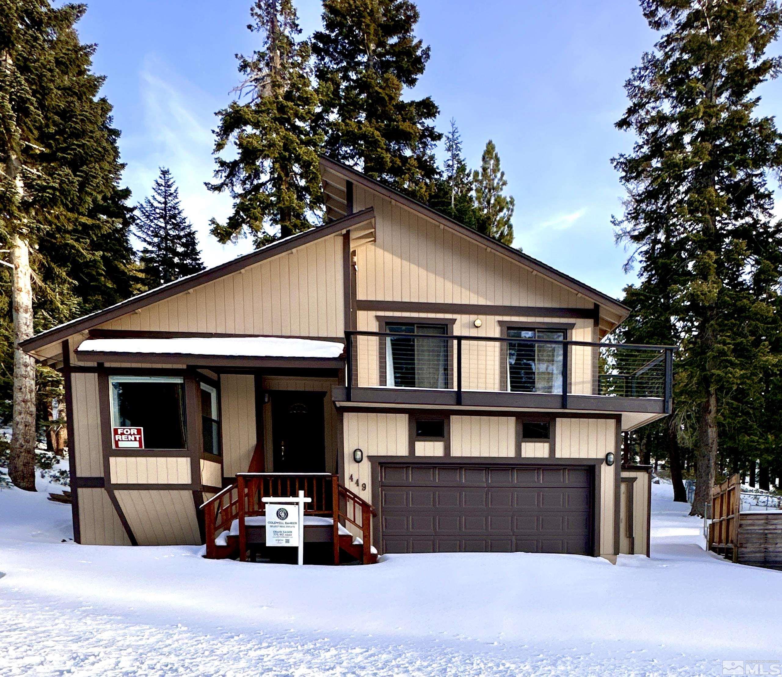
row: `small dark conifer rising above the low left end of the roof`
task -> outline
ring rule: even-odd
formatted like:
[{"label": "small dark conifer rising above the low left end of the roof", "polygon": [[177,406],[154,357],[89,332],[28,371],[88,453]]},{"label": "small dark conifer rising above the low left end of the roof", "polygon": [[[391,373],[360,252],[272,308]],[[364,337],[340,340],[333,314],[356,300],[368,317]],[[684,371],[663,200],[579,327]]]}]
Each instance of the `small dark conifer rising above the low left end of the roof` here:
[{"label": "small dark conifer rising above the low left end of the roof", "polygon": [[195,230],[182,213],[179,188],[166,167],[160,167],[152,196],[136,206],[135,231],[144,244],[141,264],[150,288],[203,270]]}]

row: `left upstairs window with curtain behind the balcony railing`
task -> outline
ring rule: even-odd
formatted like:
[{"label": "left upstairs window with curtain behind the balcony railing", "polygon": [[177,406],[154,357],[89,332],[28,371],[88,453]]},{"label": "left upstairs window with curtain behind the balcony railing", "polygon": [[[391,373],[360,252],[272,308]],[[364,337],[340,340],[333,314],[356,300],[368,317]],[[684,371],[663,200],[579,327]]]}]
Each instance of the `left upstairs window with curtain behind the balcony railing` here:
[{"label": "left upstairs window with curtain behind the balcony railing", "polygon": [[386,324],[386,383],[396,388],[448,388],[448,339],[444,324]]}]

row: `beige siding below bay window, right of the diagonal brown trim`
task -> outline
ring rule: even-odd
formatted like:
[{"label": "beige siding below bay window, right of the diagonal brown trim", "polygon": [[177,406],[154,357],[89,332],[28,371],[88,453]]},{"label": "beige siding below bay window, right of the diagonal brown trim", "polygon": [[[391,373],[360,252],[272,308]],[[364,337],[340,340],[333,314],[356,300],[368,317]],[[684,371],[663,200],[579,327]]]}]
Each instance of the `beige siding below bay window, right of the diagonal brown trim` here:
[{"label": "beige siding below bay window, right of the diagonal brown trim", "polygon": [[115,496],[138,545],[201,543],[192,491],[117,490]]}]

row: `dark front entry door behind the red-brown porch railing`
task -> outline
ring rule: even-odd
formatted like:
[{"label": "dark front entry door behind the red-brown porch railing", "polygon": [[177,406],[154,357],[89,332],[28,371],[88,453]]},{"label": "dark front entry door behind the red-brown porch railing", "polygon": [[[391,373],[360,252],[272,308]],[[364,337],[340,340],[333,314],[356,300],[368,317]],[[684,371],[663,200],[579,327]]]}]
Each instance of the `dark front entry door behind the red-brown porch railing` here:
[{"label": "dark front entry door behind the red-brown porch railing", "polygon": [[271,437],[274,472],[326,469],[322,392],[274,392]]}]

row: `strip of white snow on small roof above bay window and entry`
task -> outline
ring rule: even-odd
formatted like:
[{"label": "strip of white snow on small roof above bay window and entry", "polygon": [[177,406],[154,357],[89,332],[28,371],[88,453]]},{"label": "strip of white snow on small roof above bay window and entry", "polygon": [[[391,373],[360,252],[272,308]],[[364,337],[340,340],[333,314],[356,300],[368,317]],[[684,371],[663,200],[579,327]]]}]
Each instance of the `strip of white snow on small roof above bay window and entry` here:
[{"label": "strip of white snow on small roof above bay window and entry", "polygon": [[149,355],[206,355],[221,357],[330,357],[345,346],[335,341],[276,336],[221,338],[88,338],[80,353],[140,353]]}]

